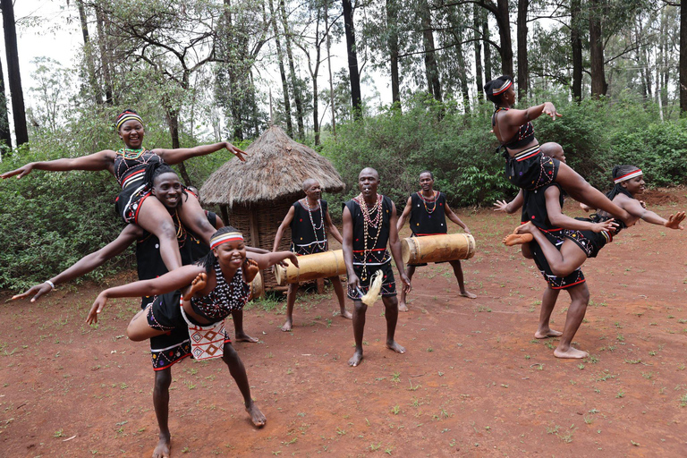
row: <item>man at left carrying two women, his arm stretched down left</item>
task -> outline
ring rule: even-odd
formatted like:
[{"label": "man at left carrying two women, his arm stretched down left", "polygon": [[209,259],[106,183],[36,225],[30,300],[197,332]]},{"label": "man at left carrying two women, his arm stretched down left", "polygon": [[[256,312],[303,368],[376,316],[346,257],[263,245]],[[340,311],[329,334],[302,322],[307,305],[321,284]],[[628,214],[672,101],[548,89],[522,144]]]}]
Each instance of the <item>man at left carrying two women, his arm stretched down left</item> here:
[{"label": "man at left carrying two women, his arm stretched down left", "polygon": [[[162,167],[160,167],[162,168]],[[165,169],[163,169],[164,171]],[[165,173],[157,174],[153,181],[153,193],[157,196],[165,208],[172,215],[176,226],[177,241],[184,265],[191,264],[208,252],[208,246],[200,242],[193,233],[186,231],[176,213],[182,205],[184,198],[179,176],[171,168]],[[221,221],[219,218],[216,218]],[[106,260],[126,250],[131,243],[136,243],[136,260],[140,280],[148,280],[167,273],[165,263],[162,261],[157,237],[140,228],[138,225],[127,225],[122,233],[102,249],[90,253],[81,258],[72,267],[54,276],[45,283],[37,284],[22,294],[13,296],[13,299],[21,299],[33,296],[31,302],[55,289],[55,285],[63,284],[79,276],[84,276],[90,271],[102,266]],[[252,249],[256,250],[256,249]],[[266,250],[259,250],[267,252]],[[145,309],[155,298],[151,296],[141,298],[141,309]],[[243,331],[243,312],[238,310],[232,313],[234,334],[238,342],[258,342],[258,339],[247,335]],[[169,387],[172,384],[172,366],[191,354],[189,334],[184,329],[174,329],[169,335],[159,335],[150,339],[150,352],[155,371],[155,386],[153,388],[153,405],[157,417],[157,425],[160,428],[159,442],[153,452],[153,457],[169,456],[171,434],[169,431]],[[258,421],[256,426],[261,426]]]}]

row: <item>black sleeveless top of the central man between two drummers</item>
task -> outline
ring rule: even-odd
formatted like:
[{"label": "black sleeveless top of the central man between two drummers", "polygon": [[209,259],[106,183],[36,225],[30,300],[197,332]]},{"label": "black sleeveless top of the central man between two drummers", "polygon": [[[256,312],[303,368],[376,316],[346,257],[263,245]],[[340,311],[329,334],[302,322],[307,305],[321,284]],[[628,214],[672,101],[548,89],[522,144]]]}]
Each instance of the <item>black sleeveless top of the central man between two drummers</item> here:
[{"label": "black sleeveless top of the central man between two drummers", "polygon": [[386,250],[386,244],[389,242],[389,224],[393,204],[388,197],[381,194],[379,196],[382,198],[381,209],[377,207],[375,211],[370,212],[369,219],[375,223],[379,211],[382,212],[382,215],[377,227],[368,224],[367,259],[365,259],[365,222],[360,202],[358,198],[354,198],[344,204],[344,207],[351,212],[353,222],[353,265],[380,266],[391,260],[389,252]]}]

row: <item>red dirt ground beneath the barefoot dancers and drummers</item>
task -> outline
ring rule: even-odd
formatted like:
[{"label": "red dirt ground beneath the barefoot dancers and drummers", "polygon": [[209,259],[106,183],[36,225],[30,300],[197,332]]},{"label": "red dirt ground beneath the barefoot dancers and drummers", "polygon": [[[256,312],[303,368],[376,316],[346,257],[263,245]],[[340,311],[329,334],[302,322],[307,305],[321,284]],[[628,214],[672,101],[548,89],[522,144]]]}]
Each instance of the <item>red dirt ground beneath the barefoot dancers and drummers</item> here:
[{"label": "red dirt ground beneath the barefoot dancers and drummers", "polygon": [[[687,207],[687,191],[645,200],[667,216]],[[592,303],[575,341],[591,357],[556,360],[556,339],[533,338],[545,283],[500,243],[518,217],[461,216],[478,242],[463,261],[478,299],[457,297],[447,265],[420,268],[396,333],[408,352],[386,350],[377,302],[358,368],[346,364],[351,322],[333,316],[330,294],[301,296],[293,333],[279,330],[283,302],[252,305],[245,327],[261,341],[235,347],[267,426],[250,425],[221,361],[184,360],[173,369],[173,455],[687,455],[687,232],[641,223],[589,259]],[[123,335],[138,304],[114,301],[92,329],[83,321],[99,289],[63,286],[38,304],[0,293],[0,455],[152,453],[148,345]],[[562,293],[558,329],[567,305]]]}]

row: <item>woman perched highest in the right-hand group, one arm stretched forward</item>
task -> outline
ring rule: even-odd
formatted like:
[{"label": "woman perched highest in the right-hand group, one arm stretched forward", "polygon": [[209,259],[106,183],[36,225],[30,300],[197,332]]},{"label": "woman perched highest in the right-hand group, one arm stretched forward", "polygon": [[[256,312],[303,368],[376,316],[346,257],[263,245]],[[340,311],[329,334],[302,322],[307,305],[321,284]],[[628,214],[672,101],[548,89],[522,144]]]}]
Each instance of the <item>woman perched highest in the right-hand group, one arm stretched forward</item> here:
[{"label": "woman perched highest in the right-hand group, one arm stretched forward", "polygon": [[539,141],[534,137],[533,119],[547,114],[552,119],[562,116],[551,102],[530,106],[526,110],[513,109],[515,89],[510,76],[500,76],[484,86],[487,98],[496,111],[491,125],[496,139],[501,143],[505,157],[505,175],[508,181],[525,190],[535,190],[550,182],[559,183],[573,199],[590,207],[601,208],[623,221],[629,215],[623,208],[612,203],[601,191],[593,188],[568,165],[541,154]]}]

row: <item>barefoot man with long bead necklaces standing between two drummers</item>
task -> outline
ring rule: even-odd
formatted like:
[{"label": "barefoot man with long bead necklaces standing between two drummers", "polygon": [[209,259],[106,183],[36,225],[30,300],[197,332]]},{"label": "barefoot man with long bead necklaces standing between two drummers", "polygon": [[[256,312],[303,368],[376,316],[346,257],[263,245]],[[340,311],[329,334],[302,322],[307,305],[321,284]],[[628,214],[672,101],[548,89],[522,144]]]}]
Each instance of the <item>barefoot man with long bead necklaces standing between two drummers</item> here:
[{"label": "barefoot man with long bead necklaces standing between two drummers", "polygon": [[405,274],[401,261],[401,242],[396,231],[396,207],[386,196],[377,194],[379,174],[373,168],[364,168],[358,175],[360,194],[344,204],[344,261],[348,273],[348,297],[353,301],[353,336],[355,352],[348,361],[357,366],[362,360],[362,335],[365,331],[365,312],[368,306],[360,301],[369,290],[370,279],[382,271],[382,301],[386,318],[386,346],[394,352],[404,353],[405,348],[394,340],[398,320],[396,283],[391,270],[388,243],[405,293],[411,292],[411,280]]}]

